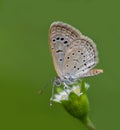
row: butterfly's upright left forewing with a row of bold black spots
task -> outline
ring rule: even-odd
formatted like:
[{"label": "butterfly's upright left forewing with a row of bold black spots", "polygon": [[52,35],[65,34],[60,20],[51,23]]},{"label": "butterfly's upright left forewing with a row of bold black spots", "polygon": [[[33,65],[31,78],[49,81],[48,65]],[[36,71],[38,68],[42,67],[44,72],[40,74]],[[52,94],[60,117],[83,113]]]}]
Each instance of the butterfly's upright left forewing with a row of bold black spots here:
[{"label": "butterfly's upright left forewing with a row of bold black spots", "polygon": [[75,28],[63,22],[53,22],[49,30],[49,44],[53,64],[60,78],[63,76],[63,62],[66,50],[76,39],[80,39],[81,33]]}]

